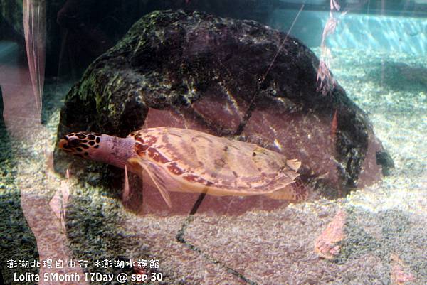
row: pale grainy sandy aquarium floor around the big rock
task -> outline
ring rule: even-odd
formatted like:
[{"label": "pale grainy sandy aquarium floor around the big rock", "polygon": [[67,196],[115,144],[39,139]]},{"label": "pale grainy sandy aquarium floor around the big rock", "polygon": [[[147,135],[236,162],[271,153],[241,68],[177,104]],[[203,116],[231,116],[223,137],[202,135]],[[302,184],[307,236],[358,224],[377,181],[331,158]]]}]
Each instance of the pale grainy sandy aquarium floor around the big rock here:
[{"label": "pale grainy sandy aquarium floor around the big rock", "polygon": [[[396,168],[347,198],[233,216],[135,215],[120,193],[82,181],[80,173],[69,179],[54,173],[51,153],[69,85],[48,82],[46,123],[9,115],[9,132],[1,137],[5,281],[14,272],[38,273],[6,268],[9,259],[86,260],[87,269],[42,267],[39,273],[80,274],[80,284],[88,284],[85,272],[132,273],[96,267],[97,259],[131,258],[159,260],[158,269],[147,271],[161,273],[163,281],[152,284],[427,284],[427,60],[357,50],[332,55],[334,76],[369,114]],[[345,238],[337,258],[322,259],[315,240],[339,210],[347,213]]]}]

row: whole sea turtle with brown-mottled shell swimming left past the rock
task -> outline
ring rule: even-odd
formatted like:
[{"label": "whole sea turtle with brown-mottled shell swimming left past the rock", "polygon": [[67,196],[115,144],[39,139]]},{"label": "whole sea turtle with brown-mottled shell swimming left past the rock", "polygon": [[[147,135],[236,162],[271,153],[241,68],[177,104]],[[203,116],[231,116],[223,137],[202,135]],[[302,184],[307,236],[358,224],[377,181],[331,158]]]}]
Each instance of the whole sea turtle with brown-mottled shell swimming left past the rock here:
[{"label": "whole sea turtle with brown-mottled shell swimming left past the rock", "polygon": [[209,195],[268,195],[304,200],[295,187],[300,161],[256,144],[213,136],[193,129],[157,127],[126,138],[81,131],[63,136],[60,149],[127,168],[142,177],[147,171],[169,207],[168,191]]}]

